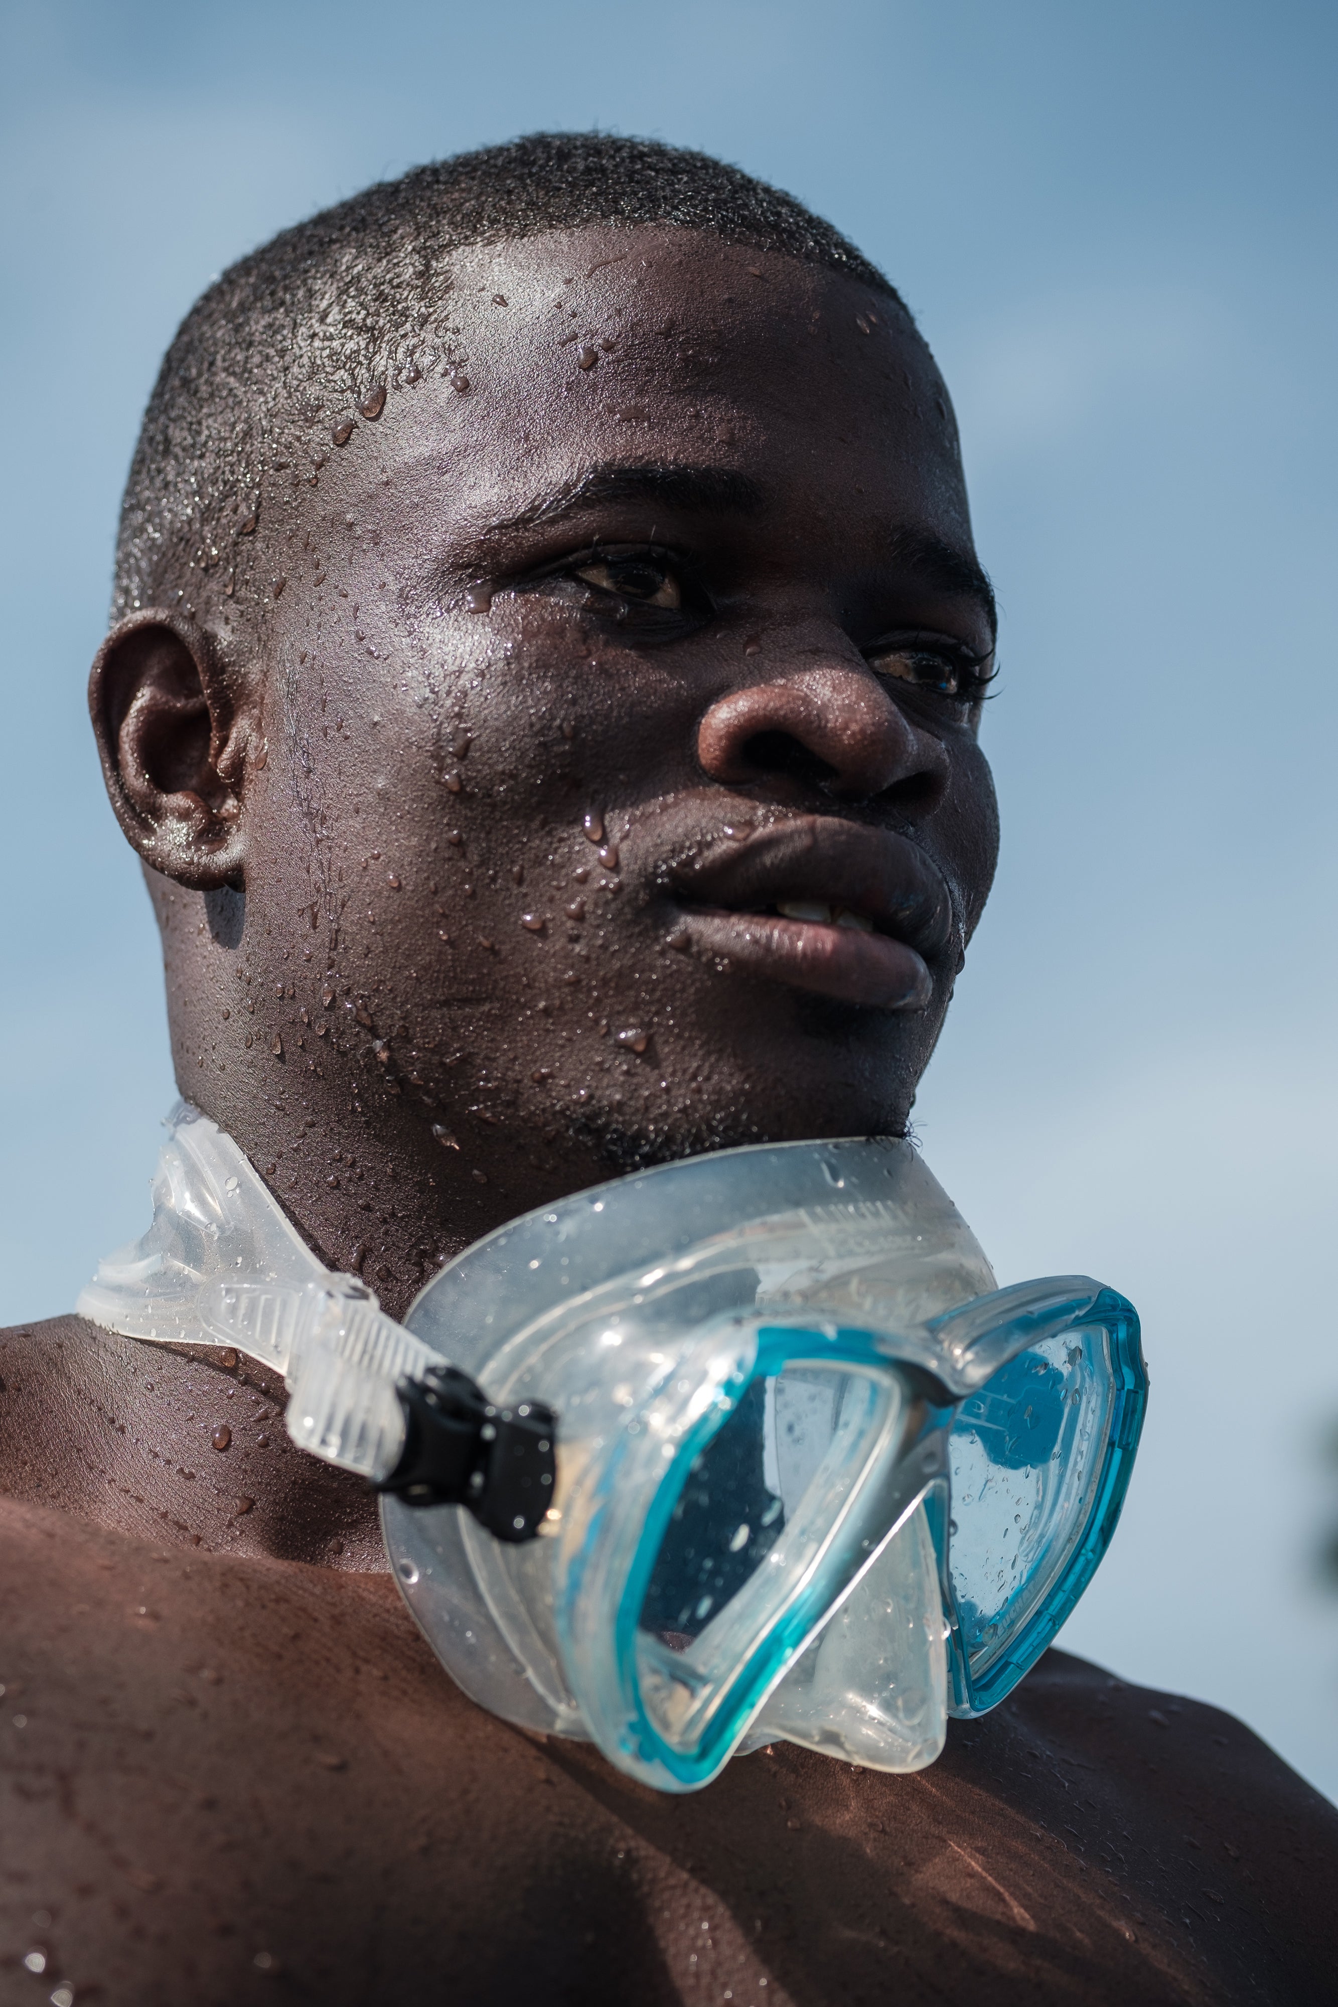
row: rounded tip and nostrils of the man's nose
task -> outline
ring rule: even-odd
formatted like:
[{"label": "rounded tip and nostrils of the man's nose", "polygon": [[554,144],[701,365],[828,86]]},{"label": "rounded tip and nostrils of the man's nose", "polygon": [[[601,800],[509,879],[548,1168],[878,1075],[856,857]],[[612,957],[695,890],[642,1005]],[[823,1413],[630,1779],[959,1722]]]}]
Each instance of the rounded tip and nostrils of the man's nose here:
[{"label": "rounded tip and nostrils of the man's nose", "polygon": [[718,698],[698,725],[696,755],[726,785],[794,783],[828,797],[887,797],[929,813],[949,781],[947,749],[897,706],[863,662],[832,662]]}]

